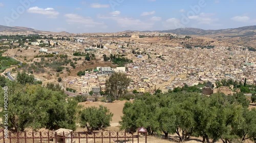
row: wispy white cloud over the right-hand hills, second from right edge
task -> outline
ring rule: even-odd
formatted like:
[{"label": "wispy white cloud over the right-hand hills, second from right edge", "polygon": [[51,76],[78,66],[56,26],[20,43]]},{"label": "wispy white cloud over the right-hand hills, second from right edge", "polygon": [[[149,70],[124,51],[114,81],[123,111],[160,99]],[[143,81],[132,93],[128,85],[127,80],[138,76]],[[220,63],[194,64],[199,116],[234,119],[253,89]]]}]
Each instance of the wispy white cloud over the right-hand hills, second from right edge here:
[{"label": "wispy white cloud over the right-hand hills, second from right edge", "polygon": [[214,24],[218,18],[212,18],[213,13],[200,13],[199,15],[188,16],[188,19],[196,20],[198,24]]}]

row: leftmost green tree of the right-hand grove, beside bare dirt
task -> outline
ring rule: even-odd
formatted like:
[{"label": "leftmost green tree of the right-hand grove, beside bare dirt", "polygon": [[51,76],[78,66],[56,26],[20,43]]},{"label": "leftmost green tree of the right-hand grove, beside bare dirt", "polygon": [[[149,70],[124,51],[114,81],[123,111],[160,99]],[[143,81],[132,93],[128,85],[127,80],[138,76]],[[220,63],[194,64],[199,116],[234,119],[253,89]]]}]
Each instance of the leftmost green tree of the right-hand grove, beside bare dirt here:
[{"label": "leftmost green tree of the right-hand grove, beside bare dirt", "polygon": [[126,102],[123,107],[120,129],[134,133],[139,127],[145,127],[148,134],[153,135],[159,129],[157,107],[158,99],[154,96],[143,95],[133,103]]}]

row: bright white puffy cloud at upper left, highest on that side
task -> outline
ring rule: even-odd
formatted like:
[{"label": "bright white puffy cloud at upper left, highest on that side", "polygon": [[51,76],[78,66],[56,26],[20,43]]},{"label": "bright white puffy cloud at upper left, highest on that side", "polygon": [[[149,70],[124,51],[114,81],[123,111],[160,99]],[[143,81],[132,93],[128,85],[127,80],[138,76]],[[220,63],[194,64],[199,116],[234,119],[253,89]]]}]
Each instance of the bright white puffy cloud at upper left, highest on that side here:
[{"label": "bright white puffy cloud at upper left, highest on that side", "polygon": [[49,18],[57,18],[59,12],[55,11],[53,8],[38,8],[38,7],[31,7],[27,10],[29,13],[37,13],[42,15],[47,15]]}]

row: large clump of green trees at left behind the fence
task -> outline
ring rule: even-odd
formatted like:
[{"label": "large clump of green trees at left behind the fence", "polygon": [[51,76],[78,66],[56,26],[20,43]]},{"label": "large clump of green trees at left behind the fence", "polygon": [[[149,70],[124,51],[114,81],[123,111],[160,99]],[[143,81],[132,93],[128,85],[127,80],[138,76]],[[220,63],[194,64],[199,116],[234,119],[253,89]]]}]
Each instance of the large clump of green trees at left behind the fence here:
[{"label": "large clump of green trees at left behind the fence", "polygon": [[[0,89],[1,105],[4,105],[4,91]],[[24,131],[26,128],[38,130],[76,128],[77,102],[68,100],[66,94],[52,91],[41,85],[8,83],[8,129]],[[3,104],[2,104],[3,103]],[[4,110],[1,110],[4,115]],[[1,126],[3,127],[4,122]]]}]

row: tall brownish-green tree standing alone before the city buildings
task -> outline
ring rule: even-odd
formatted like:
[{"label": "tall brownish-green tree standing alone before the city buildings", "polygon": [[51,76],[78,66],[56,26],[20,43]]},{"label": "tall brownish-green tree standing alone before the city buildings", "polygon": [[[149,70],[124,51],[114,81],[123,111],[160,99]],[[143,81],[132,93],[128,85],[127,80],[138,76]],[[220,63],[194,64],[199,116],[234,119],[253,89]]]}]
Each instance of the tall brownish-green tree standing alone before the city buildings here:
[{"label": "tall brownish-green tree standing alone before the city buildings", "polygon": [[130,78],[124,73],[113,73],[108,80],[106,80],[106,94],[111,97],[111,100],[118,100],[118,98],[127,90],[130,84]]}]

